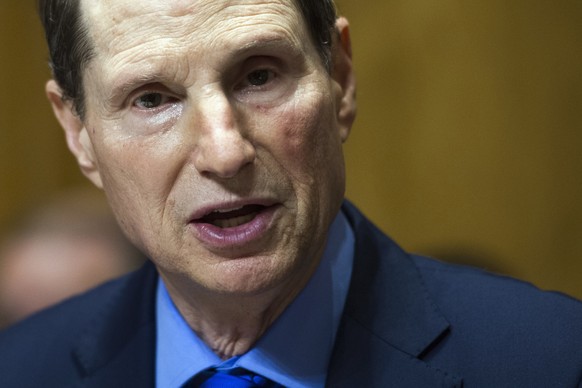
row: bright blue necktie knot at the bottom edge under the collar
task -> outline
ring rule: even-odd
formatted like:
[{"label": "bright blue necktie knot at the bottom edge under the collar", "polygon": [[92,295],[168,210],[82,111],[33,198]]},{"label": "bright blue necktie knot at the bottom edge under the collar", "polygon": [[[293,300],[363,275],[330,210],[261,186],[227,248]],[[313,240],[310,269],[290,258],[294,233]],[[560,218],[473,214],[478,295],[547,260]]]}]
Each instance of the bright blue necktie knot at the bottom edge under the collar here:
[{"label": "bright blue necktie knot at the bottom edge under the collar", "polygon": [[276,388],[281,385],[244,368],[210,368],[188,380],[182,388]]}]

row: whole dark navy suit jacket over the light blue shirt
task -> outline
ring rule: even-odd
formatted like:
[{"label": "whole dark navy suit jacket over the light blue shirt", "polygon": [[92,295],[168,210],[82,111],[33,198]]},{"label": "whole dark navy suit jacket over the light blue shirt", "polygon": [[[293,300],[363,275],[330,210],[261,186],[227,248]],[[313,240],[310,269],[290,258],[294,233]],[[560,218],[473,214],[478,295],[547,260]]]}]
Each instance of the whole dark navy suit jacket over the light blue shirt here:
[{"label": "whole dark navy suit jacket over the light blue shirt", "polygon": [[[581,387],[582,304],[402,251],[352,205],[330,387]],[[1,387],[153,387],[151,264],[0,335]],[[300,323],[298,323],[300,324]]]}]

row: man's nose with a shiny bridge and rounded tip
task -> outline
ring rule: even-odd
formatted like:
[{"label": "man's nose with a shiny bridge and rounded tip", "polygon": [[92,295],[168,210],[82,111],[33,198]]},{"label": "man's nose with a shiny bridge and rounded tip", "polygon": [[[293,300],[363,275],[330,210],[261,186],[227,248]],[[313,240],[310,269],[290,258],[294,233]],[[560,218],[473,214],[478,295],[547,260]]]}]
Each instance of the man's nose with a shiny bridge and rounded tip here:
[{"label": "man's nose with a shiny bridge and rounded tip", "polygon": [[205,98],[194,114],[194,165],[201,174],[232,178],[255,160],[255,147],[239,127],[240,120],[227,98]]}]

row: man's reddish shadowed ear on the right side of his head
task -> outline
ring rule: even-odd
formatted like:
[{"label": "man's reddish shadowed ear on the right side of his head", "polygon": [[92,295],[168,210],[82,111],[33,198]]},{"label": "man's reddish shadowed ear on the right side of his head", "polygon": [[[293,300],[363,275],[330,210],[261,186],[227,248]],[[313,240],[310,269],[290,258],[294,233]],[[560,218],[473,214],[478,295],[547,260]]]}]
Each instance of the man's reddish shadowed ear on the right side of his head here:
[{"label": "man's reddish shadowed ear on the right side of his head", "polygon": [[346,141],[356,118],[356,77],[352,64],[352,43],[348,20],[344,17],[338,18],[335,27],[336,36],[333,38],[332,45],[332,77],[341,89],[337,114],[340,136],[342,141]]}]

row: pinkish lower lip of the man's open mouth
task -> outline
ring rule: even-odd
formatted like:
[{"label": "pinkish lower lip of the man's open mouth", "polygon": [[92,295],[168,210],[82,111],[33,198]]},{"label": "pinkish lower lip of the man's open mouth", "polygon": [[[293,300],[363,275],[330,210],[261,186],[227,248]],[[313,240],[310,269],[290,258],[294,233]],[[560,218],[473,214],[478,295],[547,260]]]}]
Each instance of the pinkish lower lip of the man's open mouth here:
[{"label": "pinkish lower lip of the man's open mouth", "polygon": [[191,223],[197,237],[211,249],[233,249],[244,247],[259,239],[266,233],[273,222],[278,206],[269,206],[259,212],[246,224],[232,228],[219,228],[207,223]]}]

